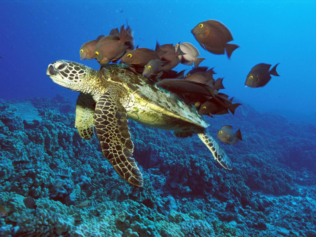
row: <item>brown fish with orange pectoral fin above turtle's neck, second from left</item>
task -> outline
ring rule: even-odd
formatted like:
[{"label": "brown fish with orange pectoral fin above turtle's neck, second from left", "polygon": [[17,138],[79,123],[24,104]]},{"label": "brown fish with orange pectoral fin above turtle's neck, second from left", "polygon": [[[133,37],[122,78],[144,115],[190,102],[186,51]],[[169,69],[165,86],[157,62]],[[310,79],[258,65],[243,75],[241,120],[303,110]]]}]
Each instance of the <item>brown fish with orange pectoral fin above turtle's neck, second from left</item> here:
[{"label": "brown fish with orange pectoral fin above turtle's neck, second from left", "polygon": [[129,42],[133,38],[125,30],[124,25],[121,27],[119,37],[108,35],[103,37],[95,46],[95,58],[100,65],[108,64],[122,57],[125,51],[129,48],[125,42]]}]

